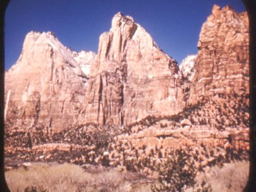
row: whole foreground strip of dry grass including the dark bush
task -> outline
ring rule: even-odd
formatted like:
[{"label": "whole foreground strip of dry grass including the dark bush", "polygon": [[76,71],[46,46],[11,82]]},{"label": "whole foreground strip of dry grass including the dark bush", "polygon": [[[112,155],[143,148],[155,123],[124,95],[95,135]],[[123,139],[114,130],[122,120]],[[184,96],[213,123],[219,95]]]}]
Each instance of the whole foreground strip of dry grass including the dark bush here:
[{"label": "whole foreground strip of dry grass including the dark bush", "polygon": [[[179,154],[178,154],[179,153]],[[168,159],[161,168],[159,178],[127,171],[119,166],[79,166],[74,164],[34,163],[6,172],[11,191],[185,191],[185,192],[238,192],[246,185],[249,162],[238,161],[220,168],[213,166],[206,172],[176,162],[182,157],[177,152],[174,160]],[[188,163],[189,157],[183,162]],[[182,161],[182,160],[181,160]],[[169,163],[172,162],[170,165]],[[192,161],[191,161],[192,162]],[[167,166],[165,166],[167,165]],[[187,164],[189,165],[189,163]],[[190,165],[192,165],[190,163]],[[185,180],[180,180],[183,176]]]}]

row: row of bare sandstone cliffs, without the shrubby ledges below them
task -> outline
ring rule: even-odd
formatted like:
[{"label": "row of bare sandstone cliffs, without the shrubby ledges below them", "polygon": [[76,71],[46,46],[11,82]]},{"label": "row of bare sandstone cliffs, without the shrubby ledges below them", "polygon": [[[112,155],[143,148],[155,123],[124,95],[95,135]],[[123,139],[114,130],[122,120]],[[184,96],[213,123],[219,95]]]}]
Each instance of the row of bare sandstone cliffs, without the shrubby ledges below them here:
[{"label": "row of bare sandstone cliffs, without the shrubby ledges below them", "polygon": [[[131,16],[120,12],[100,36],[97,56],[71,51],[51,32],[30,32],[19,60],[5,74],[6,123],[27,130],[40,124],[48,134],[74,123],[129,125],[208,101],[218,105],[202,104],[207,115],[191,117],[192,123],[214,125],[207,120],[213,118],[227,127],[236,119],[246,122],[248,30],[245,12],[214,6],[201,29],[197,56],[180,69]],[[221,118],[233,111],[225,106],[237,108],[234,120]],[[221,109],[216,113],[214,108]]]}]

